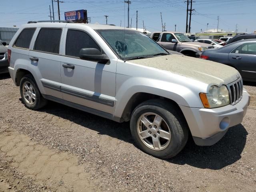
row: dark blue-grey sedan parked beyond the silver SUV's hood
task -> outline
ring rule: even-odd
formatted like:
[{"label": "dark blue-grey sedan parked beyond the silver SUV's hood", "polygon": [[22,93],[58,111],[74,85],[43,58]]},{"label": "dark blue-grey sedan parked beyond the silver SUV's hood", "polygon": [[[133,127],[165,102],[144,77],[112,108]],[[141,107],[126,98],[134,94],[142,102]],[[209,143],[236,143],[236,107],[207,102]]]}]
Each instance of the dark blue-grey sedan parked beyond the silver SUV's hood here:
[{"label": "dark blue-grey sedan parked beyond the silver SUV's hood", "polygon": [[217,50],[206,50],[201,58],[236,68],[243,80],[256,82],[256,39],[240,40]]}]

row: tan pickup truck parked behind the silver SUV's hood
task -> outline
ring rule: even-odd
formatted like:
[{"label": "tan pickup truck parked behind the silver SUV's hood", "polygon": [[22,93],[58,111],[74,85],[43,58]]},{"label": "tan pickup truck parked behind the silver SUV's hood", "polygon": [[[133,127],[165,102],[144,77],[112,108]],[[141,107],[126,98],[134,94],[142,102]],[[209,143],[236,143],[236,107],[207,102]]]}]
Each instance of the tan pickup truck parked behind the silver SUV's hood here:
[{"label": "tan pickup truck parked behind the silver SUV's hood", "polygon": [[158,36],[157,43],[160,44],[163,48],[180,52],[186,56],[199,58],[203,50],[214,48],[214,46],[209,44],[192,42],[188,36],[179,32],[154,32],[151,34],[150,38],[155,40],[156,38],[154,37],[156,36]]}]

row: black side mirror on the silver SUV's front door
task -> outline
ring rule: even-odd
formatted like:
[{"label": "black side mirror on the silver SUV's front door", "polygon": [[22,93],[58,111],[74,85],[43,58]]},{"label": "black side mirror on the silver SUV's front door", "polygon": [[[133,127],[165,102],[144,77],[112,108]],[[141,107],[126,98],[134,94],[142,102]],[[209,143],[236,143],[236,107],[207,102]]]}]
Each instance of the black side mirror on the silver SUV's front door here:
[{"label": "black side mirror on the silver SUV's front door", "polygon": [[80,59],[97,61],[106,64],[109,58],[106,54],[102,54],[100,50],[96,48],[82,48],[79,53]]}]

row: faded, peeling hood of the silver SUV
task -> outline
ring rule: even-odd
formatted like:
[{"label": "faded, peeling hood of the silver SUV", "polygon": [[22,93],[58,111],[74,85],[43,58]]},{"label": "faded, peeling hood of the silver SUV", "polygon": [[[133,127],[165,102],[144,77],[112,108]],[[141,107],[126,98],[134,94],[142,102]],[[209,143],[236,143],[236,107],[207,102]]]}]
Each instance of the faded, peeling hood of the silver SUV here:
[{"label": "faded, peeling hood of the silver SUV", "polygon": [[219,86],[234,82],[240,77],[239,72],[230,66],[177,54],[129,60],[129,62],[166,70],[206,84],[216,84]]}]

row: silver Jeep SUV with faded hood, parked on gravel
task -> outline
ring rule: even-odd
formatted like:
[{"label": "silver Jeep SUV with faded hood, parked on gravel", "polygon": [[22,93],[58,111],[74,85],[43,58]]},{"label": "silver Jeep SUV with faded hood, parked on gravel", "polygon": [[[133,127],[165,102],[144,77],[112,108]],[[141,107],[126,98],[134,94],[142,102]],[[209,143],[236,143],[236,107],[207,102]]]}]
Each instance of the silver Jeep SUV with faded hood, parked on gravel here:
[{"label": "silver Jeep SUV with faded hood, parked on gravel", "polygon": [[52,100],[130,121],[137,146],[158,158],[178,154],[189,133],[197,145],[218,142],[250,101],[236,69],[169,54],[128,28],[30,22],[9,49],[9,72],[27,108]]}]

